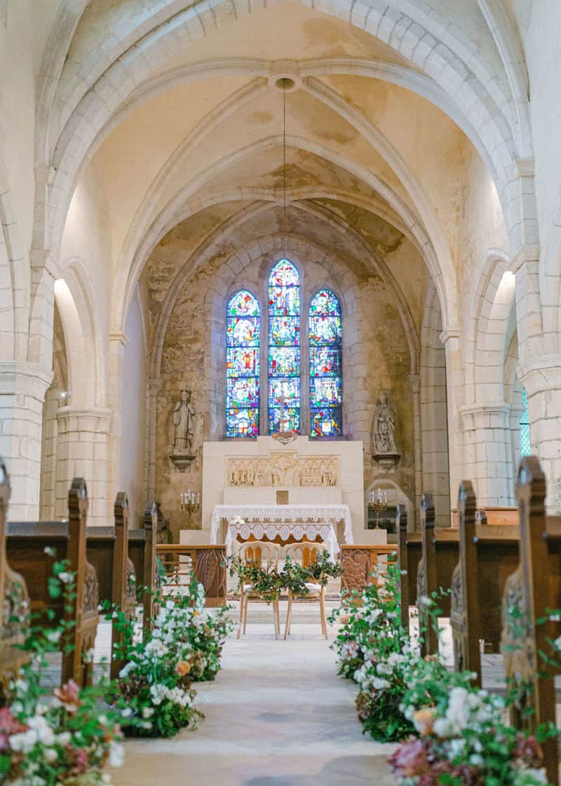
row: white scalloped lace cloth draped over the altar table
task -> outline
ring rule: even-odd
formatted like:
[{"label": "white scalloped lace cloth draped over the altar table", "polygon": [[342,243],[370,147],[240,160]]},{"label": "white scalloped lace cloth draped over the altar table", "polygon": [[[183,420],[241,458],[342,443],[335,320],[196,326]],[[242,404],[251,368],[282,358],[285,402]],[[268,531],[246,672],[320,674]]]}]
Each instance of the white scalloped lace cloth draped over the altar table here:
[{"label": "white scalloped lace cloth draped over the altar table", "polygon": [[[241,519],[241,521],[239,521]],[[328,545],[333,561],[339,553],[335,525],[344,523],[346,543],[353,542],[353,525],[348,505],[215,505],[211,520],[211,543],[218,542],[218,527],[226,520],[226,554],[232,553],[232,545],[238,536],[248,540],[253,535],[257,540],[281,538],[296,541],[307,538],[314,541],[317,535]]]}]

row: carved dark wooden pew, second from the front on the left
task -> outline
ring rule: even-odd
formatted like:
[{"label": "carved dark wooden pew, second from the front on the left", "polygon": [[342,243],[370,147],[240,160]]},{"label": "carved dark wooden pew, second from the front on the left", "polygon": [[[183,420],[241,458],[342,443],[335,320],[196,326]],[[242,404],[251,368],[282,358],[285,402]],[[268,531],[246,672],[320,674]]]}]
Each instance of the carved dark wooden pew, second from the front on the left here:
[{"label": "carved dark wooden pew, second from the front on the left", "polygon": [[[63,617],[72,623],[64,641],[72,651],[62,654],[61,679],[63,683],[73,679],[79,685],[90,685],[92,680],[93,664],[86,663],[83,656],[94,648],[99,619],[97,575],[86,560],[87,511],[86,483],[75,478],[68,493],[68,522],[10,522],[6,538],[8,560],[27,584],[31,612],[50,609],[54,624]],[[57,556],[46,554],[46,547],[56,549]],[[64,609],[62,598],[49,597],[48,582],[55,559],[68,560],[68,569],[75,575],[75,597],[69,611]]]}]

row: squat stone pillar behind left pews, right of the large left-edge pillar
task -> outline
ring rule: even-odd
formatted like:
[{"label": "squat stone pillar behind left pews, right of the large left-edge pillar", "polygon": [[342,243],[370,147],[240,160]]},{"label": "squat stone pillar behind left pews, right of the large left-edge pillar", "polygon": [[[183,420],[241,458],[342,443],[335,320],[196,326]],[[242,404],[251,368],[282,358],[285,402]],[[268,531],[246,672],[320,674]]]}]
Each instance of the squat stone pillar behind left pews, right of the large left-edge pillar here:
[{"label": "squat stone pillar behind left pews, right of the large left-edge pillar", "polygon": [[63,406],[57,412],[57,518],[67,516],[68,487],[75,477],[86,480],[90,525],[112,525],[113,497],[108,489],[109,436],[112,411]]}]

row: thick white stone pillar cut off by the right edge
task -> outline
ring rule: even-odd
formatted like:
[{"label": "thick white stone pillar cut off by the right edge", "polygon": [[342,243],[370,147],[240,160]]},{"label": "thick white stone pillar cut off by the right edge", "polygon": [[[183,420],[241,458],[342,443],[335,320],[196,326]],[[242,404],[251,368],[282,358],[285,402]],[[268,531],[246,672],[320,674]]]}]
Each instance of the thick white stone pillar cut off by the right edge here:
[{"label": "thick white stone pillar cut off by the right edge", "polygon": [[561,479],[561,354],[521,363],[519,379],[528,397],[532,454],[540,459],[548,483],[546,503],[552,505],[552,489]]}]

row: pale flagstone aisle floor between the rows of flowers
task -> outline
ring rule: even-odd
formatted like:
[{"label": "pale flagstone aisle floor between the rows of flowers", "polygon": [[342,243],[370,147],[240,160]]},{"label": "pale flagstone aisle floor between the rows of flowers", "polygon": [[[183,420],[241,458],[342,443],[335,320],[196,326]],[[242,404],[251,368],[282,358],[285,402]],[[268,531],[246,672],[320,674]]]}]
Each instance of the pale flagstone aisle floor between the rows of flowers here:
[{"label": "pale flagstone aisle floor between the rows of flowers", "polygon": [[362,735],[317,607],[299,609],[288,641],[275,641],[266,607],[251,612],[216,681],[196,685],[199,729],[128,741],[114,786],[393,786],[393,746]]}]

